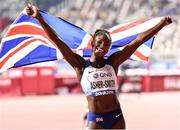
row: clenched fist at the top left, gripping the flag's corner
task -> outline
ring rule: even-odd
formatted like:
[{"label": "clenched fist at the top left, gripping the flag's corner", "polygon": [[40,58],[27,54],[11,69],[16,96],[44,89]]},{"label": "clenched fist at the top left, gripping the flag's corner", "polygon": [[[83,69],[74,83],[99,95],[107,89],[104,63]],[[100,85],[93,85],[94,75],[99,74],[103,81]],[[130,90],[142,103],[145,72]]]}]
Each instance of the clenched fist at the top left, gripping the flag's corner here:
[{"label": "clenched fist at the top left, gripping the flag's corner", "polygon": [[40,13],[39,13],[38,8],[34,5],[31,5],[31,4],[28,4],[26,6],[26,13],[29,16],[32,16],[32,17],[37,18],[37,19],[40,17]]}]

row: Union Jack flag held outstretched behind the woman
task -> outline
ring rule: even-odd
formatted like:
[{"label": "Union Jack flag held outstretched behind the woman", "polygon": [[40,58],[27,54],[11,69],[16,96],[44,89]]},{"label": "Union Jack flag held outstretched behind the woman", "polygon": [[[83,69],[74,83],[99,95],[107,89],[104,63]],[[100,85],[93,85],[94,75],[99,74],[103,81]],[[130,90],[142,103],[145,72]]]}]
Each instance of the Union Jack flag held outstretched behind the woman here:
[{"label": "Union Jack flag held outstretched behind the woman", "polygon": [[[92,36],[61,18],[40,12],[45,21],[58,36],[77,54],[91,56]],[[161,18],[137,21],[109,29],[112,48],[106,56],[120,51],[139,34],[156,25]],[[154,37],[141,45],[130,57],[133,60],[147,61],[151,54]],[[9,68],[25,66],[38,62],[62,59],[60,51],[47,36],[40,23],[28,16],[25,10],[10,25],[0,44],[0,72]]]}]

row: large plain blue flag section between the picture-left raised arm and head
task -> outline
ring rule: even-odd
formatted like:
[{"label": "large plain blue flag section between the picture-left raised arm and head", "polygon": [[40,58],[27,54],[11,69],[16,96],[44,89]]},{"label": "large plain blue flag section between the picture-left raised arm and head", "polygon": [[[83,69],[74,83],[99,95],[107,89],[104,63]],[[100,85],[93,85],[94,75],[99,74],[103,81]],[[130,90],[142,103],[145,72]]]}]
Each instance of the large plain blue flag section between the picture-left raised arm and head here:
[{"label": "large plain blue flag section between the picture-left raised arm and head", "polygon": [[86,35],[86,32],[62,18],[57,18],[41,12],[42,17],[56,31],[60,38],[72,49],[76,49]]}]

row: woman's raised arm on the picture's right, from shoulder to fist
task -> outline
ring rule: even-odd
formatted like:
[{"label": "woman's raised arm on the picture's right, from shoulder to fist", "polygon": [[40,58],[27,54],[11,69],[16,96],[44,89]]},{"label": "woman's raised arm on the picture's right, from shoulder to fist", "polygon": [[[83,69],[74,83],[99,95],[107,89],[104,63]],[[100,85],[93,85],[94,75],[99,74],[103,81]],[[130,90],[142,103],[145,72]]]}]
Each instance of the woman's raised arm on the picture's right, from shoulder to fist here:
[{"label": "woman's raised arm on the picture's right, from shoulder to fist", "polygon": [[169,16],[164,17],[156,26],[152,27],[151,29],[143,32],[140,34],[134,41],[129,43],[125,46],[125,48],[120,51],[112,54],[109,57],[113,67],[115,68],[116,72],[118,66],[127,60],[135,51],[136,49],[143,44],[145,41],[153,37],[157,32],[159,32],[164,26],[169,25],[172,23],[172,20]]}]

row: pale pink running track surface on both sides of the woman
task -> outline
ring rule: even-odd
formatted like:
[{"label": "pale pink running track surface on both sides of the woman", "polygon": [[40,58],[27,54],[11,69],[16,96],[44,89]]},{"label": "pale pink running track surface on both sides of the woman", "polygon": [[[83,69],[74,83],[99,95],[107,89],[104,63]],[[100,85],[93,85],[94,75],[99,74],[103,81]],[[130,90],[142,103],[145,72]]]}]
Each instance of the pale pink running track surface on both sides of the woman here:
[{"label": "pale pink running track surface on both sides of the woman", "polygon": [[[180,92],[121,94],[127,129],[180,129]],[[84,95],[0,99],[0,129],[83,129]]]}]

